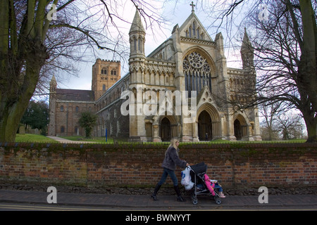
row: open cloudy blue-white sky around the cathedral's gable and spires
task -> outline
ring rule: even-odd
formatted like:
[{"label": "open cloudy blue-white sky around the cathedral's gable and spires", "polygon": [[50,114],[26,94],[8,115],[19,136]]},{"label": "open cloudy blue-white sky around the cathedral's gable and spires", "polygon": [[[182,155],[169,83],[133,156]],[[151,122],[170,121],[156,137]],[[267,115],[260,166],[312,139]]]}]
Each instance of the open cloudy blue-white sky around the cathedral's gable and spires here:
[{"label": "open cloudy blue-white sky around the cathedral's gable and spires", "polygon": [[[122,2],[125,1],[122,0]],[[157,4],[155,8],[161,8],[159,9],[158,13],[162,15],[164,19],[168,20],[168,23],[159,29],[159,27],[156,26],[146,27],[145,22],[143,21],[144,28],[147,31],[145,42],[146,56],[149,55],[151,51],[154,51],[154,49],[156,49],[156,47],[159,46],[163,41],[168,39],[168,37],[170,37],[171,31],[176,24],[181,26],[182,23],[185,22],[187,17],[192,13],[192,6],[190,6],[191,2],[192,1],[155,1],[155,4]],[[207,32],[209,32],[211,38],[215,39],[216,33],[222,32],[223,37],[225,38],[225,56],[227,57],[228,67],[240,68],[239,49],[234,51],[231,46],[232,44],[230,44],[226,34],[226,30],[219,28],[218,25],[216,25],[215,21],[211,19],[210,11],[203,10],[203,8],[206,7],[199,6],[199,2],[197,1],[194,1],[194,4],[196,4],[196,6],[194,6],[195,14],[204,25]],[[129,22],[120,24],[120,27],[122,27],[120,29],[121,32],[126,34],[126,43],[127,46],[130,46],[128,43],[128,32],[130,30],[130,23],[132,23],[133,17],[135,15],[135,8],[132,6],[132,4],[130,4],[130,1],[127,1],[127,4],[125,4],[120,10],[125,20]],[[238,39],[239,38],[240,37],[238,37]],[[112,55],[107,56],[103,50],[96,51],[97,55],[88,57],[88,63],[77,63],[77,67],[80,68],[79,72],[77,73],[77,77],[70,76],[63,71],[58,72],[58,75],[56,75],[58,88],[90,90],[92,85],[92,65],[94,65],[96,58],[111,60],[113,57]],[[123,77],[128,72],[128,64],[126,61],[123,62],[123,60],[121,60],[121,66],[121,77]]]}]

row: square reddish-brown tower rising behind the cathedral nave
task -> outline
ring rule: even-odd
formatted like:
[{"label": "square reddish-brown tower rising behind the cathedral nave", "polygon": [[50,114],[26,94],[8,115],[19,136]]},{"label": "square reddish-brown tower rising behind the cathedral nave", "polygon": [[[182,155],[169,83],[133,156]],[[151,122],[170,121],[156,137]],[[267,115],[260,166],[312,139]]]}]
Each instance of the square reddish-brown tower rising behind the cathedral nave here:
[{"label": "square reddish-brown tower rising behind the cathedral nave", "polygon": [[120,78],[120,61],[101,60],[98,58],[92,66],[92,91],[94,99],[100,98]]}]

